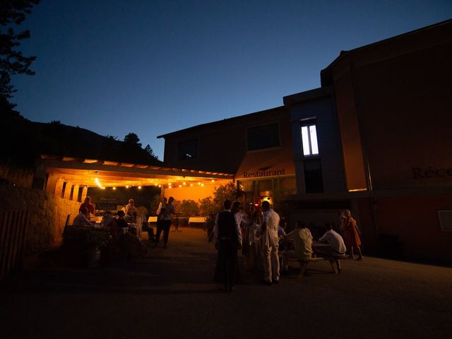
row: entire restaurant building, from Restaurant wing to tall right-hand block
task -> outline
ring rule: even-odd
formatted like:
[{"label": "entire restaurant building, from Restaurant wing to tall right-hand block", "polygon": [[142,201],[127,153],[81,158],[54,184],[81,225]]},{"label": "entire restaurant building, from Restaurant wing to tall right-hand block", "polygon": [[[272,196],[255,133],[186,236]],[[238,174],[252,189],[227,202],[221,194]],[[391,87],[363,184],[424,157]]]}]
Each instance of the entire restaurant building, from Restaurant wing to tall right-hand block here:
[{"label": "entire restaurant building, from Restaurant wing to tall right-hand block", "polygon": [[234,174],[292,227],[348,208],[368,253],[452,261],[451,60],[452,20],[340,52],[283,107],[160,136],[165,164]]}]

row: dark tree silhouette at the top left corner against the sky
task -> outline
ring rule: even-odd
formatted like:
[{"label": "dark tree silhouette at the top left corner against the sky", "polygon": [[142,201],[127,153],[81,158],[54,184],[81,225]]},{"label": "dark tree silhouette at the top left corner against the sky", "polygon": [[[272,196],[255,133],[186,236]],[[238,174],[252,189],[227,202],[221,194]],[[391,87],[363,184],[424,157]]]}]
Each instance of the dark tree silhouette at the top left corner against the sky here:
[{"label": "dark tree silhouette at the top left corner against the sky", "polygon": [[16,92],[11,85],[11,75],[35,74],[30,69],[32,61],[36,57],[24,57],[16,47],[20,41],[30,37],[30,30],[16,32],[13,28],[25,20],[25,16],[31,13],[33,6],[40,0],[1,0],[0,1],[0,108],[2,112],[18,116],[14,110],[16,105],[9,100]]}]

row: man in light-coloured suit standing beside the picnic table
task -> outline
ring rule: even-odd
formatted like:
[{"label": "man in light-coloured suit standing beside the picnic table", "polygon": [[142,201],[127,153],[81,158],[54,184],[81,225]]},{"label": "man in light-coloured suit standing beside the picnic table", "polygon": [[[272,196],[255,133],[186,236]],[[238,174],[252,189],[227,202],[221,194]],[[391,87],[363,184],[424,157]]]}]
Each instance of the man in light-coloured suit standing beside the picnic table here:
[{"label": "man in light-coloured suit standing beside the picnic table", "polygon": [[263,250],[264,278],[263,283],[271,285],[279,283],[280,261],[278,257],[278,226],[280,216],[272,208],[268,201],[262,202],[263,218],[261,225],[261,242]]}]

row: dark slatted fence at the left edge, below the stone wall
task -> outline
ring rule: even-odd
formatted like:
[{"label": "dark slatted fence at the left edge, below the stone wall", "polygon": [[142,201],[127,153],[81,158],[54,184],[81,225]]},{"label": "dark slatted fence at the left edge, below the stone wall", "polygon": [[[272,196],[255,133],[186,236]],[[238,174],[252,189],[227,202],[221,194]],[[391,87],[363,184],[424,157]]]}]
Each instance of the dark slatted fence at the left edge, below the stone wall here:
[{"label": "dark slatted fence at the left edge, below the stone wall", "polygon": [[0,280],[22,268],[29,218],[24,210],[0,212]]}]

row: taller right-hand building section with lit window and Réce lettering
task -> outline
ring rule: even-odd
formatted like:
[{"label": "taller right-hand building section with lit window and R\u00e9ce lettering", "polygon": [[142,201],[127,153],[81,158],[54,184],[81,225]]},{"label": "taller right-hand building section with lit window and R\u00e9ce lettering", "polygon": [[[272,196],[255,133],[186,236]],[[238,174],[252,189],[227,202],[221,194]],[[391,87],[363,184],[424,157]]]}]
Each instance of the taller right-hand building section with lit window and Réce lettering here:
[{"label": "taller right-hand building section with lit window and R\u00e9ce lettering", "polygon": [[[452,261],[451,59],[448,20],[343,51],[321,71],[322,88],[284,98],[299,187],[293,218],[330,222],[347,207],[368,251]],[[297,137],[312,125],[316,154]]]}]

